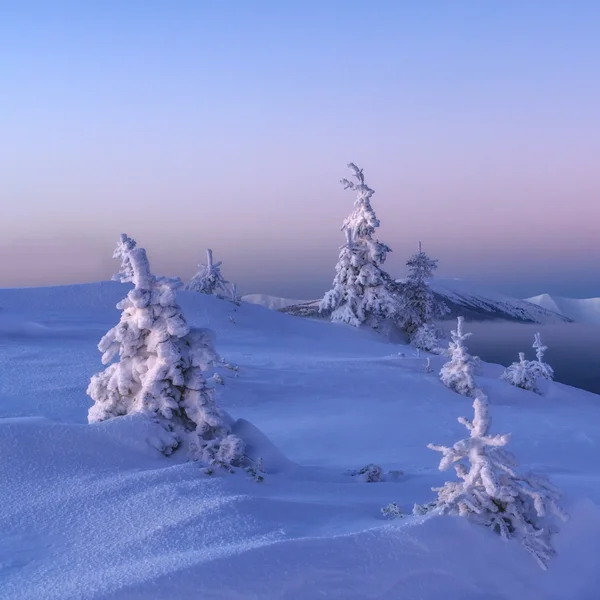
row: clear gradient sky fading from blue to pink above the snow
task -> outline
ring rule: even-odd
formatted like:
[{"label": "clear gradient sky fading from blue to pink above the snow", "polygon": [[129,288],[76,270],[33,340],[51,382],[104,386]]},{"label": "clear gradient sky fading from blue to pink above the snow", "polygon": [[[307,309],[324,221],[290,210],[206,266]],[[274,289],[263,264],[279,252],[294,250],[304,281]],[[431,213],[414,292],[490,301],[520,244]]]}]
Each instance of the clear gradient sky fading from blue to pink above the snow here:
[{"label": "clear gradient sky fading from blue to pink above the snow", "polygon": [[600,296],[600,2],[0,1],[0,286],[161,274],[207,246],[311,298],[353,194],[394,276]]}]

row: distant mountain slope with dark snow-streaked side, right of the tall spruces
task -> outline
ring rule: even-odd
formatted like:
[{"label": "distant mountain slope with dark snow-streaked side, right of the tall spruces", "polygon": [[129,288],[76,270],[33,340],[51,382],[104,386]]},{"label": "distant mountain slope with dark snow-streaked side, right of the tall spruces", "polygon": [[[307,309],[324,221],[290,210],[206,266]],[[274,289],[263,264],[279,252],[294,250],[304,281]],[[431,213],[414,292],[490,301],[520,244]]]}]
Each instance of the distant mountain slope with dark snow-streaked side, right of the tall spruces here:
[{"label": "distant mountain slope with dark snow-streaked side, right of the tall spruces", "polygon": [[468,320],[504,319],[525,323],[564,323],[571,319],[553,309],[527,300],[511,298],[463,279],[432,279],[431,288],[443,300],[450,313],[446,318],[463,316]]}]

